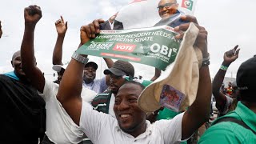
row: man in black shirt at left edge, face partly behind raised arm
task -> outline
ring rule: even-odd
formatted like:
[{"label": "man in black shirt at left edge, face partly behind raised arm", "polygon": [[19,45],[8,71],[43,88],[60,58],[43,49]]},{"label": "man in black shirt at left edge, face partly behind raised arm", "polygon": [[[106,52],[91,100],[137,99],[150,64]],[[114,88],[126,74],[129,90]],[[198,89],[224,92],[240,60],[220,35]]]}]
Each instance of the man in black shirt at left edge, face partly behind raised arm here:
[{"label": "man in black shirt at left edge, face partly behind raised arm", "polygon": [[45,132],[45,102],[22,71],[21,53],[14,53],[14,71],[0,74],[0,143],[34,143]]}]

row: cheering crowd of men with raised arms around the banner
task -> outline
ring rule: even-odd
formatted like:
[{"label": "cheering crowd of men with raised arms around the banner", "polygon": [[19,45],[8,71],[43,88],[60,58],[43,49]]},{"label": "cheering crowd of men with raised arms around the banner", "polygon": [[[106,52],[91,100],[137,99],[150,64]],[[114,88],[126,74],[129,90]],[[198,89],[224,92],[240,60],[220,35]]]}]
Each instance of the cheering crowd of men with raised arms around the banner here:
[{"label": "cheering crowd of men with raised arms around the banner", "polygon": [[[159,2],[158,11],[163,19],[174,13],[178,6],[175,2]],[[14,71],[0,74],[1,143],[256,143],[256,57],[243,62],[236,81],[225,88],[226,70],[238,58],[240,50],[234,46],[224,53],[222,65],[211,82],[208,34],[195,17],[181,16],[174,30],[179,33],[177,39],[183,38],[190,22],[199,30],[194,42],[202,53],[197,97],[181,113],[161,107],[152,114],[139,108],[138,98],[160,76],[161,70],[155,69],[150,80],[140,80],[134,77],[130,62],[103,58],[108,69],[102,71],[103,78],[95,79],[97,63],[88,62],[87,55],[75,52],[64,65],[62,45],[68,24],[62,17],[55,22],[58,38],[52,59],[58,79],[54,82],[46,79],[34,56],[34,30],[41,18],[39,6],[25,8],[21,49],[11,59]],[[82,26],[78,47],[95,38],[102,24],[113,22],[114,18],[109,23],[97,19]],[[209,121],[212,94],[219,118],[200,138],[194,137]]]}]

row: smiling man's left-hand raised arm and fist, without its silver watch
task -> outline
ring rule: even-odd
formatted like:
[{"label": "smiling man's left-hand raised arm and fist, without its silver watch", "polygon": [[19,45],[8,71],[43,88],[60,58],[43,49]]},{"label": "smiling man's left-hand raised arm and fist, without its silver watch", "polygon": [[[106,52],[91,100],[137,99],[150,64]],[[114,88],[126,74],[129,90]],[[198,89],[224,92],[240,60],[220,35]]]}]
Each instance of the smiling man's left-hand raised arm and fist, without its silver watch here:
[{"label": "smiling man's left-hand raised arm and fist, without its silver watch", "polygon": [[[99,32],[99,25],[97,24],[94,25],[94,23],[90,23],[89,25],[82,26],[80,29],[81,43],[79,46],[89,41],[90,38],[95,38],[96,32]],[[62,103],[62,106],[70,115],[70,118],[72,118],[77,125],[79,125],[82,110],[82,74],[85,64],[86,63],[78,62],[73,58],[71,59],[62,77],[62,82],[57,94],[58,101]]]}]

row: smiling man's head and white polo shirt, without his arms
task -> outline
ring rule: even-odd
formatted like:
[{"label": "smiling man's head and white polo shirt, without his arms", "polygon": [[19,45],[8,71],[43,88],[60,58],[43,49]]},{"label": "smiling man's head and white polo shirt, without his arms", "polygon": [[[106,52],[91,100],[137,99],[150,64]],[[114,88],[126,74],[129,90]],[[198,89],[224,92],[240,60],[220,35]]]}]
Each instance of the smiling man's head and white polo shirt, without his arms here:
[{"label": "smiling man's head and white polo shirt, without his arms", "polygon": [[[115,98],[114,113],[98,113],[82,102],[80,126],[94,143],[174,143],[182,139],[182,117],[150,124],[146,113],[139,109],[137,99],[145,87],[126,81]],[[90,117],[89,117],[90,115]]]}]

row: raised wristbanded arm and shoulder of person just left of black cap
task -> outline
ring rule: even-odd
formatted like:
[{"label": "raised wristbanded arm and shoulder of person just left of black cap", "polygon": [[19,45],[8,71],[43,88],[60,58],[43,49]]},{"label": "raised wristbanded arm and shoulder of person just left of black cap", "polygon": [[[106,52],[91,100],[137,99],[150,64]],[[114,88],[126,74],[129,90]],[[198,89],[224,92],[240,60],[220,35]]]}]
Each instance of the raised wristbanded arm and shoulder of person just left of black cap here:
[{"label": "raised wristbanded arm and shoulder of person just left of black cap", "polygon": [[234,93],[231,95],[226,95],[226,93],[223,93],[221,90],[221,86],[225,78],[226,70],[228,69],[230,64],[238,58],[239,50],[240,49],[238,48],[238,46],[234,46],[233,49],[228,50],[224,53],[222,66],[214,77],[212,89],[214,98],[216,99],[218,116],[225,115],[228,112],[234,110],[238,103],[238,90],[236,88],[237,86],[234,86]]}]

